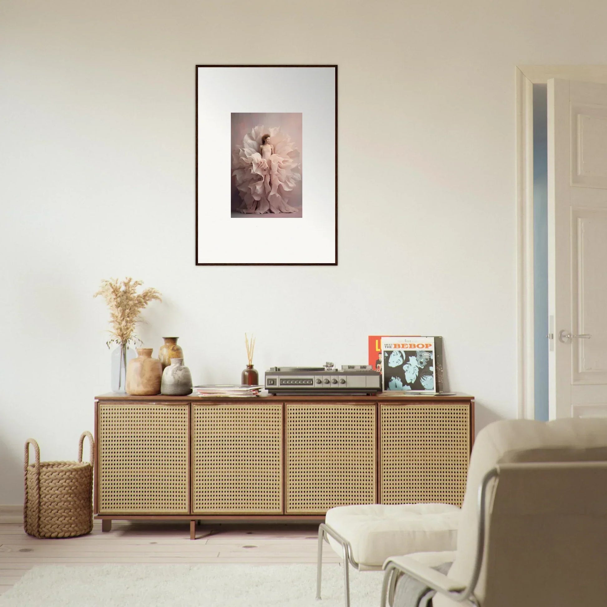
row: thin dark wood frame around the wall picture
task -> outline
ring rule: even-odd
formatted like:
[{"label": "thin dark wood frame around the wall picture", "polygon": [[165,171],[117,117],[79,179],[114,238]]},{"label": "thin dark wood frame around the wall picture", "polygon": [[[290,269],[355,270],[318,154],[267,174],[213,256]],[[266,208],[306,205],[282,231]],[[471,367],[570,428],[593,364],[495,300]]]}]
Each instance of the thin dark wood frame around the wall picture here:
[{"label": "thin dark wood frame around the wall picture", "polygon": [[[198,68],[200,67],[332,67],[335,70],[335,261],[319,263],[209,263],[198,260]],[[336,64],[257,64],[257,65],[237,65],[237,64],[197,64],[195,66],[195,265],[197,266],[223,266],[223,265],[337,265],[337,65]]]}]

